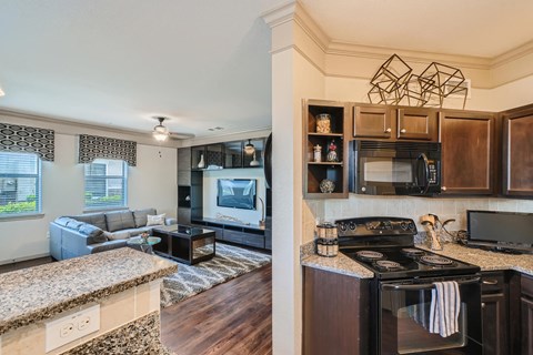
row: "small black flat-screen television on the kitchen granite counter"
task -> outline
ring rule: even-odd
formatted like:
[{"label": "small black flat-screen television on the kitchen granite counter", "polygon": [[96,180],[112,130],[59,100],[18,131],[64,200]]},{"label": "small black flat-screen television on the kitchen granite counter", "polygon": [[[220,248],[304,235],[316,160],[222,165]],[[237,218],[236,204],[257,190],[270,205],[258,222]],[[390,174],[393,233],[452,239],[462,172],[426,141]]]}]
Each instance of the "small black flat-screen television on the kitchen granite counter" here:
[{"label": "small black flat-screen television on the kitchen granite counter", "polygon": [[533,213],[466,211],[467,244],[533,251]]}]

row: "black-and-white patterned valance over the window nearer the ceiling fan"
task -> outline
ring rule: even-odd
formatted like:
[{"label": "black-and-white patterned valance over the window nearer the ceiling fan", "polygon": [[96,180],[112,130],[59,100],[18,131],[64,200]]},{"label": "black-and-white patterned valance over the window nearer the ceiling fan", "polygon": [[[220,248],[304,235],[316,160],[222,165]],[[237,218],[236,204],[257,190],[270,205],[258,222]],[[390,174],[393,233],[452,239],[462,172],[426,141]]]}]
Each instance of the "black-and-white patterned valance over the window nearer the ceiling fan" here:
[{"label": "black-and-white patterned valance over the window nearer the ceiling fan", "polygon": [[80,134],[79,163],[92,163],[94,159],[123,160],[137,166],[137,142],[114,138]]}]

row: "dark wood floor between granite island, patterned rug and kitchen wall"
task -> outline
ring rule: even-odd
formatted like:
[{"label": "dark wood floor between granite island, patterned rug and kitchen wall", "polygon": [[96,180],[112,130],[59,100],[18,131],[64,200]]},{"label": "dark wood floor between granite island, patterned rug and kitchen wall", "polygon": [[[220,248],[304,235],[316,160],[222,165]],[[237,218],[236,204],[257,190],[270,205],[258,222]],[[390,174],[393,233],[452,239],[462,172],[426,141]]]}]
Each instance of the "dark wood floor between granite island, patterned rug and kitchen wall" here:
[{"label": "dark wood floor between granite island, patterned rug and kitchen wall", "polygon": [[163,308],[161,333],[177,355],[272,354],[272,265]]}]

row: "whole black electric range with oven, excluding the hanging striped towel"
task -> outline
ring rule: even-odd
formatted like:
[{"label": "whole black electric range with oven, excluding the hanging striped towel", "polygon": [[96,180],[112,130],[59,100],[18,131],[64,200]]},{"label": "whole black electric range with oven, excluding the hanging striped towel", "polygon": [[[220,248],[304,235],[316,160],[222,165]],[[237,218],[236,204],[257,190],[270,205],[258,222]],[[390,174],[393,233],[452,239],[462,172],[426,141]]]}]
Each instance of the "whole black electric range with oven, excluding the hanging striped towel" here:
[{"label": "whole black electric range with oven, excluding the hanging striped towel", "polygon": [[[366,288],[369,354],[483,353],[479,266],[415,247],[416,225],[410,219],[360,217],[335,223],[341,253],[374,272]],[[456,283],[461,303],[459,329],[447,337],[430,333],[423,326],[425,316],[414,315],[416,310],[430,314],[435,284],[442,282]]]}]

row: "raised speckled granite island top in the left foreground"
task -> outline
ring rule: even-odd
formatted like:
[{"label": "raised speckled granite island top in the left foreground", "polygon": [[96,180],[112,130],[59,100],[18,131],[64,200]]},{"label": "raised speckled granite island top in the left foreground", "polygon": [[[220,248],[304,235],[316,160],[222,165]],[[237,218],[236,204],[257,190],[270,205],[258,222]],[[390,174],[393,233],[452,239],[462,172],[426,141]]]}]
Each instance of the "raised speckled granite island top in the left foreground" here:
[{"label": "raised speckled granite island top in the left foreground", "polygon": [[2,274],[0,335],[177,271],[160,256],[120,247]]}]

